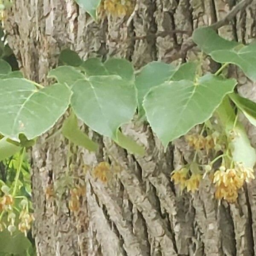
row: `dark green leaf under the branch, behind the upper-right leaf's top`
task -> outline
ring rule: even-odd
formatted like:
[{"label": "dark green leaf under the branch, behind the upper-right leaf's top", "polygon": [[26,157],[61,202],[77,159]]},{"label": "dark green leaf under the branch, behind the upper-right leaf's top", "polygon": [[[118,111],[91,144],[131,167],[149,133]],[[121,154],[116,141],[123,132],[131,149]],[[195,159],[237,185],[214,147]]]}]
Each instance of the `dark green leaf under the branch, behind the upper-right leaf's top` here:
[{"label": "dark green leaf under the branch, behind the upper-right leaf's top", "polygon": [[229,50],[239,45],[236,41],[228,41],[221,38],[214,29],[210,27],[201,27],[195,29],[192,35],[193,41],[202,49],[205,53],[209,54],[216,50]]}]

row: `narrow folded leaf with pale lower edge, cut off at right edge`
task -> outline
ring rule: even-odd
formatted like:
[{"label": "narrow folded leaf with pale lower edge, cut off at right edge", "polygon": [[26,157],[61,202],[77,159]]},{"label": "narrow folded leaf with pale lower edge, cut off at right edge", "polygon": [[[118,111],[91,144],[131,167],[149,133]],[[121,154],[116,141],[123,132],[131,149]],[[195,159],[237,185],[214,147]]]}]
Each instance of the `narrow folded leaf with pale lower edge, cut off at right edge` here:
[{"label": "narrow folded leaf with pale lower edge, cut off at right edge", "polygon": [[256,103],[250,99],[241,97],[236,93],[232,93],[229,96],[236,106],[244,113],[250,123],[256,126]]}]

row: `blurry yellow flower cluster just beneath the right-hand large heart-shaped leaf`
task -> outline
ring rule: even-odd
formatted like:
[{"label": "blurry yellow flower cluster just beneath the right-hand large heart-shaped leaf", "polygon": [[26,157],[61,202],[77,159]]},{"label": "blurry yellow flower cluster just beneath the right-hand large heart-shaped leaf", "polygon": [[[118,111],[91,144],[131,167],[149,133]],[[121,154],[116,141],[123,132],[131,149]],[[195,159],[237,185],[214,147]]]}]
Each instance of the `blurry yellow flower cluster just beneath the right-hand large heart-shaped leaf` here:
[{"label": "blurry yellow flower cluster just beneath the right-hand large heart-shaped leaf", "polygon": [[217,134],[211,134],[207,137],[204,137],[201,134],[189,134],[185,136],[185,139],[189,146],[195,148],[195,150],[205,149],[209,152],[210,149],[215,147],[217,136]]}]

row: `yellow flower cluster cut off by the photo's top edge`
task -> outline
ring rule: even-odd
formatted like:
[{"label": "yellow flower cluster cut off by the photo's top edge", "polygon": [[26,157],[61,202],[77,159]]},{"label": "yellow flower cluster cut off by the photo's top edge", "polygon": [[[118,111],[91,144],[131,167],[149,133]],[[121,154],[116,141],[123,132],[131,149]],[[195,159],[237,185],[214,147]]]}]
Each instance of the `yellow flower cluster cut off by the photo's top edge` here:
[{"label": "yellow flower cluster cut off by the photo's top edge", "polygon": [[104,0],[99,7],[99,12],[106,11],[113,16],[122,17],[131,15],[134,6],[135,0]]}]

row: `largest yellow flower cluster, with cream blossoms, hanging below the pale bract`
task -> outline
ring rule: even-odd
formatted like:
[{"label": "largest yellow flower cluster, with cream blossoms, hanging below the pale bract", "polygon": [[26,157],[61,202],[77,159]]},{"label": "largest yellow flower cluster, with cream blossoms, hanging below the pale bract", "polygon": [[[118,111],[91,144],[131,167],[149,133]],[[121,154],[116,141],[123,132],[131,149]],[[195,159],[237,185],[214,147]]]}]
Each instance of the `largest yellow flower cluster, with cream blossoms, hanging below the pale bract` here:
[{"label": "largest yellow flower cluster, with cream blossoms, hanging below the pale bract", "polygon": [[253,169],[245,168],[241,163],[236,163],[235,167],[230,169],[221,166],[214,173],[215,197],[234,203],[238,198],[238,190],[241,189],[244,181],[249,182],[254,178]]}]

